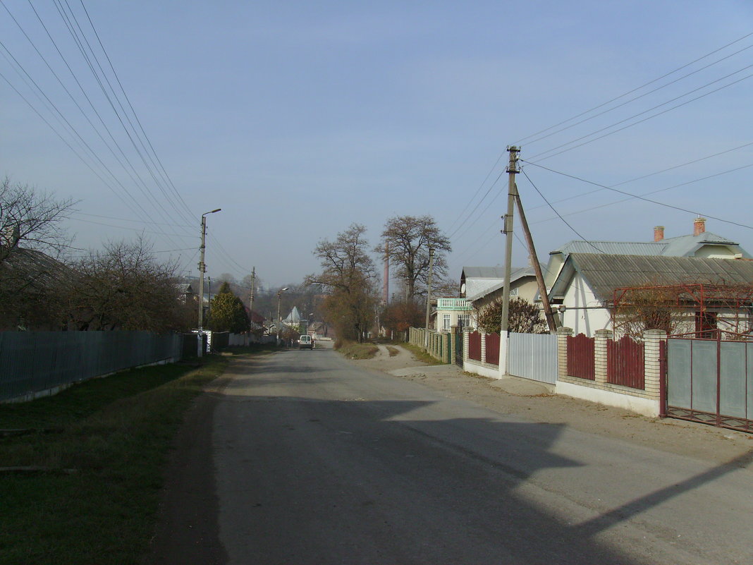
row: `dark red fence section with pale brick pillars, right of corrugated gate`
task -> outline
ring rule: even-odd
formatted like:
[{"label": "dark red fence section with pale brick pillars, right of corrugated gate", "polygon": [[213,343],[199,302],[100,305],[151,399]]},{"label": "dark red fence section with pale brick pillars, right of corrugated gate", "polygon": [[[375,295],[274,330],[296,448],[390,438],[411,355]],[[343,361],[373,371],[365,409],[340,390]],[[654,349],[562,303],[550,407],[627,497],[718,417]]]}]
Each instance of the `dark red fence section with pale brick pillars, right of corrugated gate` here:
[{"label": "dark red fence section with pale brick pillars, right of corrugated gate", "polygon": [[649,417],[660,413],[660,350],[666,332],[646,330],[643,343],[611,340],[611,330],[595,337],[557,330],[559,374],[556,392]]}]

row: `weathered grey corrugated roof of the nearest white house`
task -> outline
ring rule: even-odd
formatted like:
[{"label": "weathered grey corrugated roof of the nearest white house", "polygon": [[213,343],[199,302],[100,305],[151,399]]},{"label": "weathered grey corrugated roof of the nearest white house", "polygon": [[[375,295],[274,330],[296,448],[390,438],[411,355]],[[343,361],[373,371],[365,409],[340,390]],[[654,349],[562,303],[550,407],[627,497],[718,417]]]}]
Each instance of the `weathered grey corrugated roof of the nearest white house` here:
[{"label": "weathered grey corrugated roof of the nearest white house", "polygon": [[605,302],[611,300],[614,289],[631,286],[681,282],[753,284],[753,261],[571,253],[552,286],[550,298],[564,295],[575,273],[580,273],[596,297]]}]

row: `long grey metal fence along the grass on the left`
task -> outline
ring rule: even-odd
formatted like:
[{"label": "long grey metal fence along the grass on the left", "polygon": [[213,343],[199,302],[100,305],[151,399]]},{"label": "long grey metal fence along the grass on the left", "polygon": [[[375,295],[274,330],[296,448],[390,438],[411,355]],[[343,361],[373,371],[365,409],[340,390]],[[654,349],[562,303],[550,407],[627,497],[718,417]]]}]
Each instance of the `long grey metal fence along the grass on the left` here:
[{"label": "long grey metal fence along the grass on the left", "polygon": [[180,334],[0,331],[0,402],[123,369],[181,359]]}]

